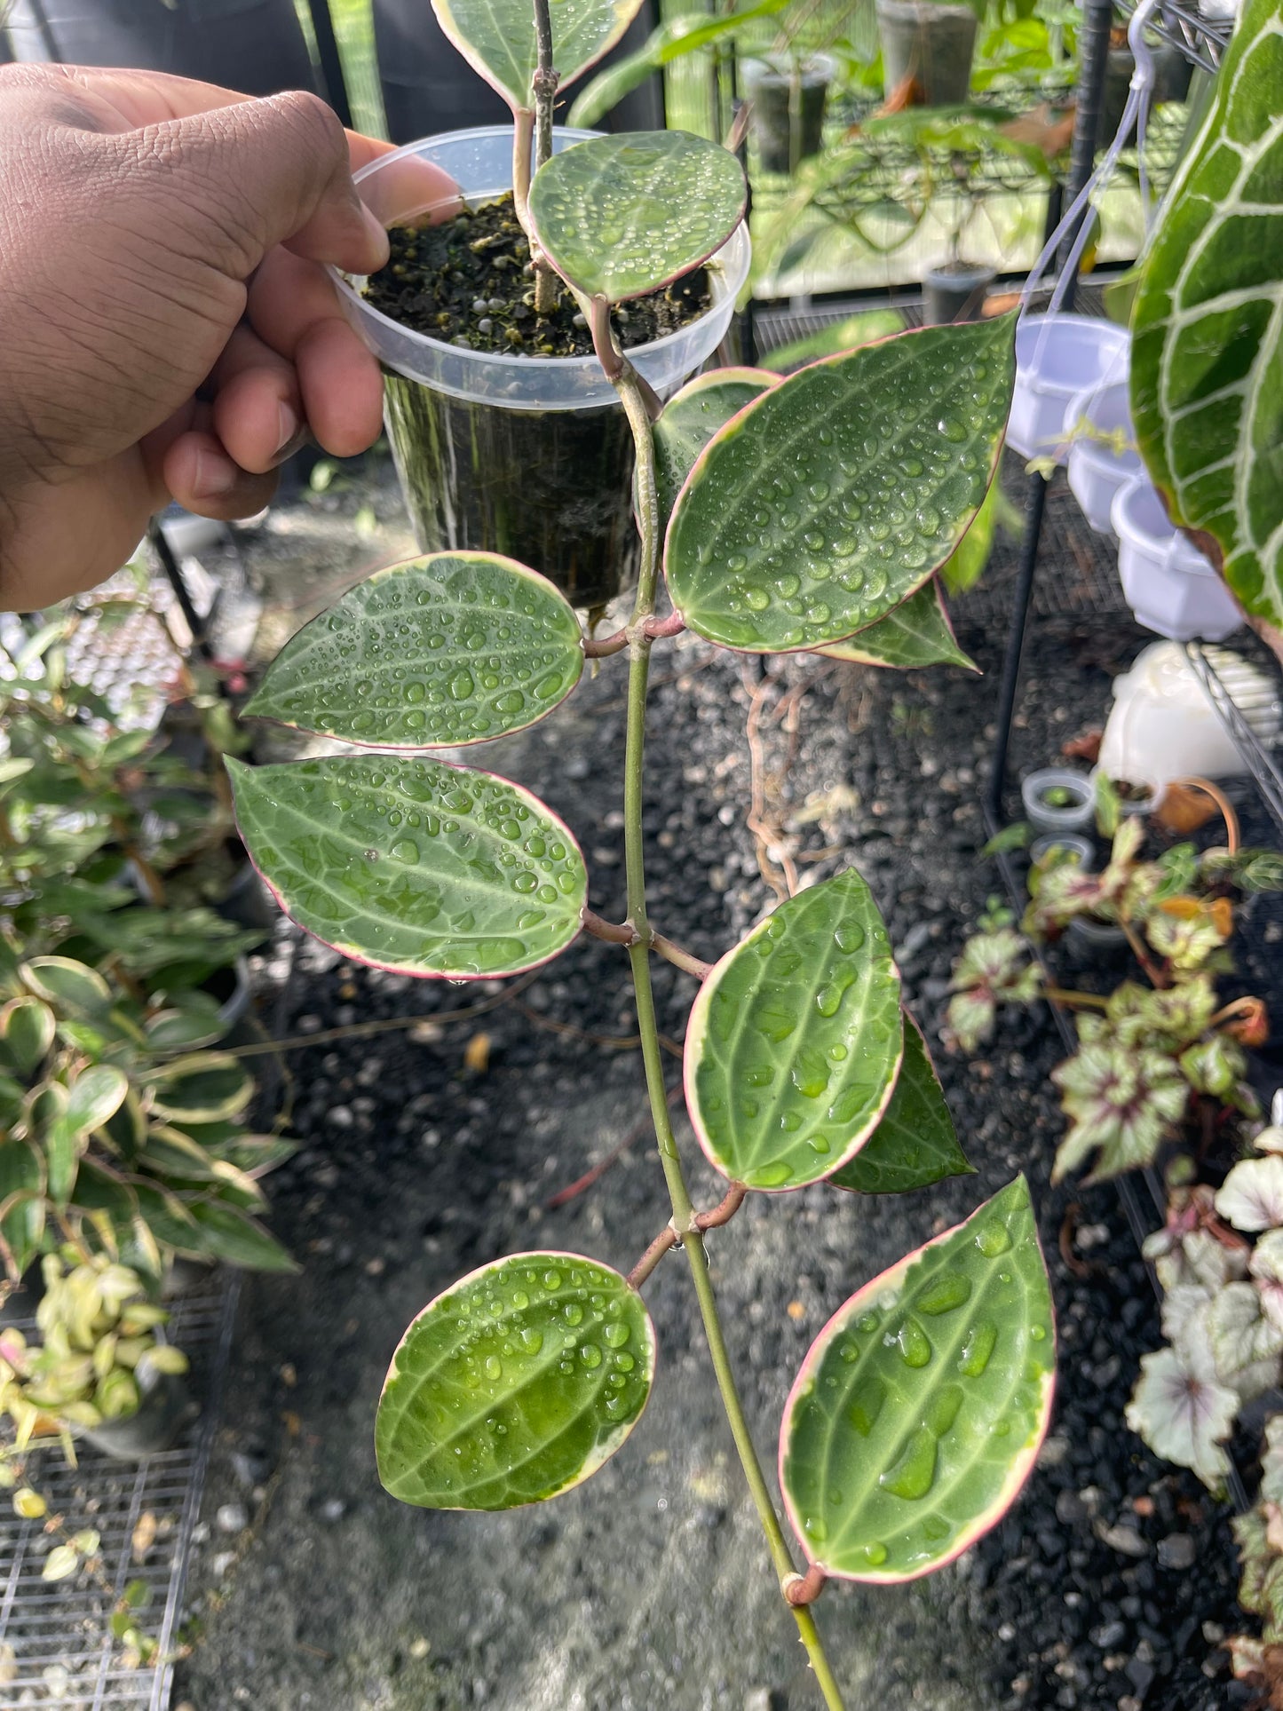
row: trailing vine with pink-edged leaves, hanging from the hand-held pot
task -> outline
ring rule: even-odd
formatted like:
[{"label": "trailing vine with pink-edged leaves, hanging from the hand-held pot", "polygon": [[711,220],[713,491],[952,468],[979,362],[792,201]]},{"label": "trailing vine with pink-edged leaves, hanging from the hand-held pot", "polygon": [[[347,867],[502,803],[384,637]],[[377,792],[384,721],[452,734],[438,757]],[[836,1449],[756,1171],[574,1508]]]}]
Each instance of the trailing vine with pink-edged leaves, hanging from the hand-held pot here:
[{"label": "trailing vine with pink-edged leaves, hanging from the hand-held pot", "polygon": [[[600,0],[556,10],[554,34],[546,5],[532,22],[527,0],[438,0],[446,29],[513,103],[518,154],[535,110],[547,132],[556,70],[578,70],[623,27]],[[428,1507],[505,1509],[585,1480],[645,1406],[657,1345],[640,1290],[681,1246],[783,1598],[825,1702],[838,1708],[809,1605],[826,1578],[931,1572],[1014,1499],[1050,1408],[1047,1275],[1018,1179],[837,1312],[780,1430],[801,1572],[744,1420],[705,1232],[751,1191],[828,1181],[878,1194],[970,1167],[857,873],[790,898],[713,967],[652,926],[648,666],[653,645],[683,628],[751,654],[956,660],[934,573],[994,472],[1013,325],[905,334],[787,380],[725,371],[660,409],[618,349],[611,308],[727,240],[744,202],[734,157],[679,133],[604,137],[541,151],[529,195],[520,190],[518,176],[541,265],[576,296],[633,428],[642,570],[631,619],[590,640],[549,582],[493,553],[378,571],[286,645],[246,707],[361,751],[229,761],[238,823],[287,914],[371,965],[493,979],[541,965],[585,931],[631,963],[671,1223],[628,1276],[578,1254],[525,1252],[429,1302],[378,1406],[385,1487]],[[660,559],[667,616],[655,613]],[[624,652],[628,917],[612,924],[588,907],[583,857],[556,814],[520,785],[431,751],[546,717],[585,657]],[[712,1211],[693,1206],[674,1141],[652,955],[700,982],[684,1076],[693,1129],[727,1181]]]}]

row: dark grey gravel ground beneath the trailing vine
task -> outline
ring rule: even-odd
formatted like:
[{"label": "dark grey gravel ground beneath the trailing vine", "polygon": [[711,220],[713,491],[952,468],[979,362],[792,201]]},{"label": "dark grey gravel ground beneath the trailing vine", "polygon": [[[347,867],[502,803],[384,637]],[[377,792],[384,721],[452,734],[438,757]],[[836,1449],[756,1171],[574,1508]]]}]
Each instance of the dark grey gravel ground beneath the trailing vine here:
[{"label": "dark grey gravel ground beneath the trailing vine", "polygon": [[[265,551],[260,573],[270,561]],[[763,852],[775,874],[789,856],[821,876],[854,864],[874,886],[979,1175],[898,1199],[823,1186],[751,1198],[710,1240],[727,1336],[773,1461],[783,1396],[833,1309],[1026,1170],[1061,1326],[1052,1436],[1011,1514],[951,1569],[898,1590],[826,1591],[818,1620],[847,1702],[1220,1711],[1247,1702],[1216,1649],[1235,1627],[1228,1514],[1122,1424],[1138,1357],[1158,1343],[1156,1309],[1114,1191],[1047,1186],[1061,1134],[1047,1083],[1059,1039],[1030,1013],[1008,1015],[980,1059],[937,1045],[951,960],[996,890],[977,850],[999,638],[963,640],[985,679],[831,667],[802,695],[816,662],[780,666],[760,693]],[[1023,765],[1100,722],[1110,672],[1141,642],[1120,625],[1103,636],[1038,628],[1018,724]],[[606,660],[558,715],[484,761],[566,814],[594,907],[614,919],[623,679],[621,662]],[[657,648],[652,909],[703,956],[773,900],[746,826],[754,690],[753,662],[691,638]],[[669,965],[655,967],[655,982],[662,1027],[679,1039],[693,982]],[[431,1295],[527,1247],[580,1249],[626,1270],[667,1218],[643,1140],[592,1189],[547,1208],[642,1116],[636,1054],[559,1032],[631,1033],[624,958],[580,943],[518,1001],[452,1023],[431,1018],[488,989],[356,968],[315,944],[294,956],[282,932],[260,987],[265,1013],[289,1033],[428,1020],[291,1056],[303,1152],[275,1177],[274,1220],[304,1270],[246,1280],[176,1701],[193,1711],[819,1706],[772,1583],[679,1254],[647,1285],[660,1343],[652,1405],[585,1487],[477,1518],[405,1509],[375,1477],[383,1371]],[[488,1064],[467,1068],[465,1047],[472,1040],[476,1054],[482,1032]],[[674,1061],[674,1081],[676,1071]],[[696,1199],[720,1198],[681,1128],[679,1141]]]}]

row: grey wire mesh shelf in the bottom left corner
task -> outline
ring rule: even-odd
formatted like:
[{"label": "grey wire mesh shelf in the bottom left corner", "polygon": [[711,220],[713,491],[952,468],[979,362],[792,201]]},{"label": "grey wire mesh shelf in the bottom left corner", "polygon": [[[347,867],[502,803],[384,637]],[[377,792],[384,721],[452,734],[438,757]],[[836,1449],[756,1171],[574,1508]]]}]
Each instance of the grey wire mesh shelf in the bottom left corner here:
[{"label": "grey wire mesh shelf in the bottom left corner", "polygon": [[[56,1446],[26,1458],[27,1483],[50,1514],[63,1518],[65,1531],[101,1535],[101,1576],[80,1569],[70,1579],[44,1581],[41,1567],[58,1540],[44,1521],[22,1521],[0,1502],[0,1711],[166,1711],[238,1290],[234,1271],[212,1273],[169,1304],[169,1335],[188,1355],[193,1393],[204,1398],[200,1418],[173,1449],[123,1463],[84,1446],[79,1468],[68,1468]],[[140,1523],[154,1533],[145,1550]],[[111,1637],[113,1608],[132,1581],[144,1581],[151,1595],[137,1620],[157,1641],[154,1667],[130,1668]]]}]

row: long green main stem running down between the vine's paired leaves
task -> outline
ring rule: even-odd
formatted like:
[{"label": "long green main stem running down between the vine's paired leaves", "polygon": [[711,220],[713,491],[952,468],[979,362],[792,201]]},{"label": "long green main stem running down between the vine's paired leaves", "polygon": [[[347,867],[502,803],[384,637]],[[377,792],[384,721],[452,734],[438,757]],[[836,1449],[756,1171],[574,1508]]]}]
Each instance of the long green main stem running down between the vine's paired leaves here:
[{"label": "long green main stem running down between the vine's paired leaves", "polygon": [[[650,1097],[650,1116],[655,1124],[655,1143],[659,1146],[664,1181],[672,1201],[672,1228],[679,1234],[691,1268],[695,1294],[700,1302],[708,1355],[713,1365],[717,1388],[722,1394],[730,1436],[739,1453],[744,1478],[748,1480],[753,1502],[766,1535],[766,1545],[780,1583],[795,1574],[789,1545],[775,1513],[775,1502],[761,1471],[758,1453],[753,1446],[744,1408],[736,1389],[736,1376],[730,1369],[722,1321],[717,1312],[717,1297],[708,1275],[708,1256],[703,1247],[703,1234],[695,1222],[686,1175],[681,1167],[677,1143],[669,1121],[669,1100],[664,1086],[664,1059],[660,1056],[659,1027],[655,1021],[655,996],[650,987],[650,924],[647,921],[647,879],[642,844],[642,780],[647,737],[647,678],[650,674],[652,638],[645,633],[645,619],[655,609],[655,580],[659,571],[659,496],[655,491],[655,445],[650,435],[650,414],[647,400],[638,387],[638,376],[631,364],[621,364],[621,371],[611,376],[619,400],[628,414],[636,443],[636,512],[642,532],[642,568],[636,583],[636,602],[630,625],[630,671],[628,671],[628,739],[624,758],[624,862],[628,876],[628,919],[638,932],[640,943],[628,948],[633,965],[633,992],[636,999],[636,1030],[642,1035],[642,1061],[647,1071],[647,1093]],[[792,1608],[792,1607],[790,1607]],[[819,1690],[825,1696],[828,1711],[843,1711],[842,1692],[825,1656],[819,1632],[811,1612],[801,1605],[794,1608],[797,1632],[811,1658]]]}]

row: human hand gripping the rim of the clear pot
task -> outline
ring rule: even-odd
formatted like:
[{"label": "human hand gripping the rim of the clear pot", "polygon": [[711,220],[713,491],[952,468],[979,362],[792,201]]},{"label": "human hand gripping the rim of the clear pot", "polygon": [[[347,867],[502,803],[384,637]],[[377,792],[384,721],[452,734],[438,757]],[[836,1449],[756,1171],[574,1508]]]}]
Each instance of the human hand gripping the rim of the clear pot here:
[{"label": "human hand gripping the rim of the clear pot", "polygon": [[311,94],[0,67],[0,609],[109,577],[171,498],[253,515],[308,433],[376,438],[322,263],[387,260],[351,173],[388,147]]}]

